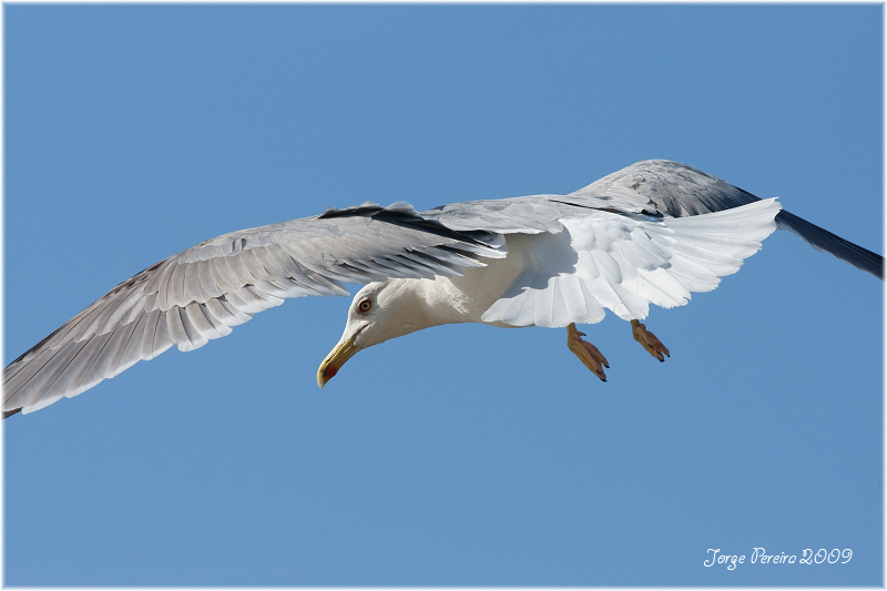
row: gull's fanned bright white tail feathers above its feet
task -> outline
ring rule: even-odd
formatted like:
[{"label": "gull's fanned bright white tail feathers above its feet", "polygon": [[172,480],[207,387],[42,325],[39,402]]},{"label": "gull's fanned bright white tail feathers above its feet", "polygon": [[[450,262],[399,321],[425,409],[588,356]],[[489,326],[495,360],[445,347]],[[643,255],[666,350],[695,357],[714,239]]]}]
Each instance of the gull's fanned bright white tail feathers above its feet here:
[{"label": "gull's fanned bright white tail feathers above its feet", "polygon": [[601,211],[562,220],[564,232],[516,243],[528,268],[482,320],[553,327],[599,322],[602,308],[628,320],[646,317],[651,303],[686,304],[690,292],[713,289],[757,252],[778,212],[766,200],[681,220]]}]

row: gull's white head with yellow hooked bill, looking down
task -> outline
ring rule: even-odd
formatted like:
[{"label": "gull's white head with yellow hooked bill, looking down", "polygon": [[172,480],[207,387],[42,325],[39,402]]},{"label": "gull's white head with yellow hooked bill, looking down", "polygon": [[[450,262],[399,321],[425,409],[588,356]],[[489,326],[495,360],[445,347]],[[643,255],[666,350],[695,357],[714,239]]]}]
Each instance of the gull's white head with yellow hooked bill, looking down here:
[{"label": "gull's white head with yellow hooked bill, looking down", "polygon": [[317,369],[322,388],[357,351],[441,324],[429,314],[418,279],[389,279],[364,286],[351,300],[338,344]]}]

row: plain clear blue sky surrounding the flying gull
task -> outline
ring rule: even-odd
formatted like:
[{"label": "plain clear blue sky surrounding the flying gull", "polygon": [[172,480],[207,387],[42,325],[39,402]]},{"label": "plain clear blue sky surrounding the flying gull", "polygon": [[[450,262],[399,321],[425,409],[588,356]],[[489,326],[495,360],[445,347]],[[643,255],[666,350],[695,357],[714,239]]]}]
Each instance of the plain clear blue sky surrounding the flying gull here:
[{"label": "plain clear blue sky surrounding the flying gull", "polygon": [[[7,363],[224,232],[651,157],[881,251],[880,6],[3,10]],[[287,302],[4,421],[6,583],[880,585],[881,288],[779,232],[664,364],[447,326],[323,391],[349,302]]]}]

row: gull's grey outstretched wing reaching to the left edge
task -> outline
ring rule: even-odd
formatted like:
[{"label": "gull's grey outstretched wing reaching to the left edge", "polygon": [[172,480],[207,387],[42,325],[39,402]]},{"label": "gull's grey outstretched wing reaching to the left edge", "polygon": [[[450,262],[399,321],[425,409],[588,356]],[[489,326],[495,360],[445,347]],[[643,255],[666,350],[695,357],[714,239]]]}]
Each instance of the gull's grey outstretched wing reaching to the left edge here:
[{"label": "gull's grey outstretched wing reaching to the left edge", "polygon": [[202,347],[284,298],[343,283],[458,275],[503,257],[501,236],[455,232],[406,204],[365,204],[224,234],[124,281],[3,370],[3,415],[80,394],[173,345]]}]

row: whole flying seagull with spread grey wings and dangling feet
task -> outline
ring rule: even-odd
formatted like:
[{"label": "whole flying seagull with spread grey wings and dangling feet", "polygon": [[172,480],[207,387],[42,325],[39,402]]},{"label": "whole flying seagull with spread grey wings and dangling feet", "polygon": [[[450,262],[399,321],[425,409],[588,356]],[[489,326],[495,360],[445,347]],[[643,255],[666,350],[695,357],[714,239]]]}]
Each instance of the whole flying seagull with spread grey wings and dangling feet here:
[{"label": "whole flying seagull with spread grey wings and dangling feet", "polygon": [[575,324],[604,309],[640,320],[738,271],[788,230],[884,278],[884,258],[741,188],[676,162],[632,164],[568,195],[330,208],[202,242],[124,281],[3,370],[3,416],[92,388],[173,345],[192,350],[285,298],[354,297],[317,371],[323,387],[357,351],[452,323],[565,327],[569,350],[605,380],[606,358]]}]

